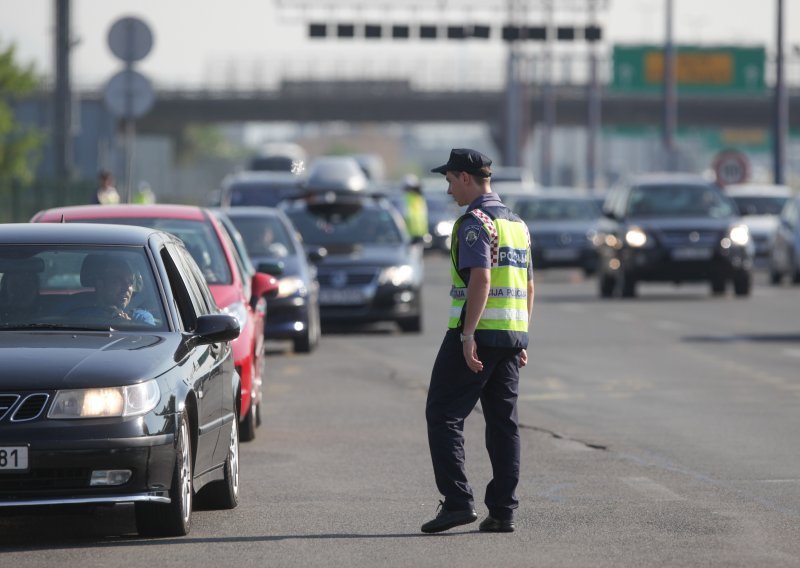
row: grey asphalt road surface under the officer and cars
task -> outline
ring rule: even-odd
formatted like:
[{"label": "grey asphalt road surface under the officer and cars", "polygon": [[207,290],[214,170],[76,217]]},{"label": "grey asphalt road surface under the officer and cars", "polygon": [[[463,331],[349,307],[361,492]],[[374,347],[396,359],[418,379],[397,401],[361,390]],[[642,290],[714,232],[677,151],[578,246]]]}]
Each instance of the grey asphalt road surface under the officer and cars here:
[{"label": "grey asphalt road surface under the officer and cars", "polygon": [[[423,334],[269,345],[237,509],[197,511],[189,536],[163,540],[139,538],[125,506],[4,516],[0,565],[800,566],[800,289],[760,275],[748,299],[642,285],[601,301],[593,280],[537,275],[518,530],[431,536],[424,403],[445,258],[427,257],[426,276]],[[466,436],[483,517],[479,410]]]}]

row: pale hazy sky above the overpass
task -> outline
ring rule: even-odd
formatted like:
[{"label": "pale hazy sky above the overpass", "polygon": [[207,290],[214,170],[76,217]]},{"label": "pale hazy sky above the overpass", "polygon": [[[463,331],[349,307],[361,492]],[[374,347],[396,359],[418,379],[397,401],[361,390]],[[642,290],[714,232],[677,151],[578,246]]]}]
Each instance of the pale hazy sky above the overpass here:
[{"label": "pale hazy sky above the overpass", "polygon": [[[506,5],[506,0],[494,0],[494,11],[480,12],[475,6],[492,1],[430,0],[433,8],[424,11],[386,12],[386,6],[402,6],[403,1],[389,4],[375,0],[370,4],[360,0],[358,4],[373,6],[361,9],[372,10],[373,18],[387,22],[434,17],[466,23],[465,17],[482,17],[494,18],[495,24],[502,23],[497,13]],[[422,5],[422,0],[405,1]],[[580,1],[556,0],[556,4]],[[607,8],[601,13],[600,25],[607,45],[663,40],[665,0],[602,1]],[[301,12],[298,2],[317,2],[317,6],[327,2],[336,8]],[[777,0],[673,2],[674,33],[679,43],[764,45],[770,51],[774,48]],[[795,50],[795,57],[800,57],[800,2],[784,2],[786,49]],[[537,0],[529,2],[531,6],[536,4]],[[0,0],[0,46],[13,42],[18,60],[33,63],[46,77],[52,75],[53,69],[54,5],[55,0]],[[72,0],[72,33],[77,41],[71,60],[73,84],[101,86],[123,68],[123,62],[109,50],[107,36],[111,25],[126,16],[140,18],[152,29],[153,50],[136,68],[162,88],[269,85],[292,74],[304,77],[326,72],[347,77],[348,73],[373,68],[378,75],[385,73],[387,66],[400,74],[427,72],[441,76],[436,67],[431,67],[436,62],[439,69],[464,71],[466,75],[475,66],[480,69],[502,62],[504,48],[498,40],[467,44],[440,40],[422,46],[419,41],[408,45],[392,40],[343,45],[341,40],[307,39],[305,22],[312,18],[346,21],[355,14],[352,5],[353,0]],[[374,8],[375,5],[379,7]],[[582,14],[557,12],[556,19],[565,24],[587,23]],[[453,61],[459,63],[454,65]],[[473,61],[474,65],[470,63]]]}]

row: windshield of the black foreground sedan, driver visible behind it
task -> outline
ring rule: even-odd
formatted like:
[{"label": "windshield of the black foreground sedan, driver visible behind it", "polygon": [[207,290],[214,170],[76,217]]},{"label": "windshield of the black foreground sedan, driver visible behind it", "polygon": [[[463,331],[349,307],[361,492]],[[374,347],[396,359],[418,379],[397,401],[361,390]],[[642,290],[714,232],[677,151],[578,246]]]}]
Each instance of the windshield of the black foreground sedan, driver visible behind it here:
[{"label": "windshield of the black foreground sedan, driver visible behind it", "polygon": [[168,329],[143,247],[0,246],[0,332]]}]

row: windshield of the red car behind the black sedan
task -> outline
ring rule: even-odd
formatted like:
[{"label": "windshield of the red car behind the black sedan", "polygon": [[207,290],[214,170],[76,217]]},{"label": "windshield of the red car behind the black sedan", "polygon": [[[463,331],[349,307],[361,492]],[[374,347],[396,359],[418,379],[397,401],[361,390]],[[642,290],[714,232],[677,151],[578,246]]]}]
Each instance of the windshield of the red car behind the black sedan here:
[{"label": "windshield of the red car behind the black sedan", "polygon": [[209,284],[231,284],[233,275],[228,266],[225,252],[214,227],[204,221],[193,219],[165,219],[162,217],[141,217],[110,219],[85,219],[81,223],[113,223],[116,225],[136,225],[150,227],[172,233],[183,241],[186,249],[200,267]]}]

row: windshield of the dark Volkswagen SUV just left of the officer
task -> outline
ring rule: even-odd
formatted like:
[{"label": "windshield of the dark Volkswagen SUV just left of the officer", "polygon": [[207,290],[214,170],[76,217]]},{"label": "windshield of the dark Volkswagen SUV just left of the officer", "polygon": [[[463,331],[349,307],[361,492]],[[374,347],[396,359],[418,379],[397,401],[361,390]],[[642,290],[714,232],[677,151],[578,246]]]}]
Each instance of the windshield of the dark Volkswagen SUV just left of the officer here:
[{"label": "windshield of the dark Volkswagen SUV just left of the officer", "polygon": [[295,207],[286,211],[292,224],[313,245],[400,244],[395,218],[382,207]]}]

